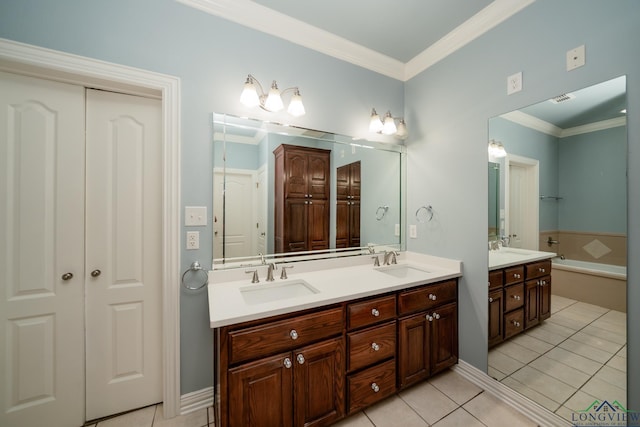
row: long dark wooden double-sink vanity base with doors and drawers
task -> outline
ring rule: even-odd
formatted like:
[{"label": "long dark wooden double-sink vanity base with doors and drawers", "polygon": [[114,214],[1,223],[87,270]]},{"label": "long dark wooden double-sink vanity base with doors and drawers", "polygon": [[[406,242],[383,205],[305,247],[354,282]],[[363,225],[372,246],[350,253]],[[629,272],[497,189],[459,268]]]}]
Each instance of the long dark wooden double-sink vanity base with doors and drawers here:
[{"label": "long dark wooden double-sink vanity base with doors and drawers", "polygon": [[215,330],[216,425],[328,426],[458,361],[457,280]]}]

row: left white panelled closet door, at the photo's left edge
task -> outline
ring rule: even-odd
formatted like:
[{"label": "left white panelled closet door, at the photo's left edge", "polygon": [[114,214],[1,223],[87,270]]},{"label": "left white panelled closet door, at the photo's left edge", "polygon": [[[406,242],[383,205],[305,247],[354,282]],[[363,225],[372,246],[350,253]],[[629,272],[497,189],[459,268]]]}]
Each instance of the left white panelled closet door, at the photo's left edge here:
[{"label": "left white panelled closet door, at the photo's left edge", "polygon": [[80,426],[84,88],[0,73],[0,109],[0,425]]}]

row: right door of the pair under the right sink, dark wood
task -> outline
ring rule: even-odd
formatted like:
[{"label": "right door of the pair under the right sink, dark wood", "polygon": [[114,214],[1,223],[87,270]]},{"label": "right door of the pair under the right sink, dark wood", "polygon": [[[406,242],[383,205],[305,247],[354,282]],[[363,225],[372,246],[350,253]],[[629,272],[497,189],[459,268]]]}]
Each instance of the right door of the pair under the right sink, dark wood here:
[{"label": "right door of the pair under the right sink, dark wood", "polygon": [[431,374],[458,362],[458,305],[438,307],[432,314]]}]

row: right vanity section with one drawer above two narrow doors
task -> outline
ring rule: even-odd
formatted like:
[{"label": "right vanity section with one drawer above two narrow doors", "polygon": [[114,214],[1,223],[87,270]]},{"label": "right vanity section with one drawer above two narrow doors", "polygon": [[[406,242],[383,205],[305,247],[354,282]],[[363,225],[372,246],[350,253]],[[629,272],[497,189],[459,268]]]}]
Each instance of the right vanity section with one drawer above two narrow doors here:
[{"label": "right vanity section with one drawer above two narrow doors", "polygon": [[398,386],[403,388],[458,362],[457,282],[398,296]]}]

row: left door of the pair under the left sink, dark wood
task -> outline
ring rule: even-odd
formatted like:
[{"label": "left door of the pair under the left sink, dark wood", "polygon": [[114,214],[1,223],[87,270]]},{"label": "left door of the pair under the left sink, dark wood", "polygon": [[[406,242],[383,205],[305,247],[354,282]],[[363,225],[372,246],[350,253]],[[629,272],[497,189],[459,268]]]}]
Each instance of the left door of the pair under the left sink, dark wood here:
[{"label": "left door of the pair under the left sink, dark wood", "polygon": [[229,427],[293,425],[291,353],[233,368],[228,378]]}]

